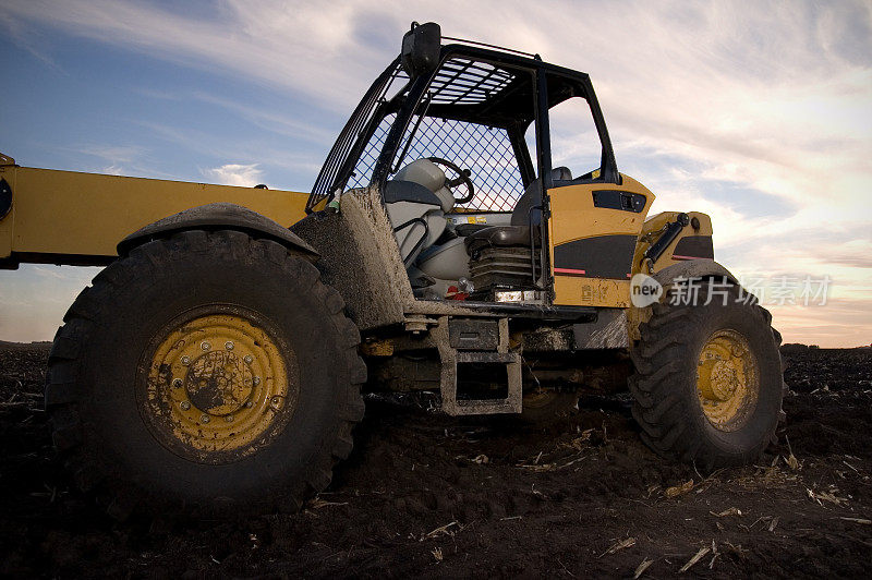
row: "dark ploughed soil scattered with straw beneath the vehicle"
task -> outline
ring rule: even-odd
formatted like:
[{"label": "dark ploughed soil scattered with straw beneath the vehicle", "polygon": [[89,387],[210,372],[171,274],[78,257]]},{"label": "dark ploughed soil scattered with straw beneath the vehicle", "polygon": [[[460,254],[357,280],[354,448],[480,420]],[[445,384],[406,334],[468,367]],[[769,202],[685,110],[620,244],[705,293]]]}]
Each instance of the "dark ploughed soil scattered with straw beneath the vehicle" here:
[{"label": "dark ploughed soil scattered with straw beneath the vehicle", "polygon": [[756,467],[702,478],[657,458],[626,398],[547,427],[371,398],[301,513],[118,523],[51,448],[48,347],[0,345],[0,575],[666,577],[707,548],[689,575],[869,578],[872,350],[789,350],[787,426]]}]

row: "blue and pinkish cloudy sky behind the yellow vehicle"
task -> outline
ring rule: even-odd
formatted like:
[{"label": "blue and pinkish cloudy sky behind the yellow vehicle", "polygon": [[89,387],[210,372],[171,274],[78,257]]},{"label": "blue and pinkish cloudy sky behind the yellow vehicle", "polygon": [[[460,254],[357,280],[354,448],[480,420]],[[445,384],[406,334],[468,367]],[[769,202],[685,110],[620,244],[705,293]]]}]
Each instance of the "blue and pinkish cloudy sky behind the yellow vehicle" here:
[{"label": "blue and pinkish cloudy sky behind the yellow vehicle", "polygon": [[[3,0],[0,152],[308,191],[413,20],[590,73],[620,170],[712,215],[786,340],[872,342],[868,1]],[[0,339],[50,339],[96,271],[0,270]]]}]

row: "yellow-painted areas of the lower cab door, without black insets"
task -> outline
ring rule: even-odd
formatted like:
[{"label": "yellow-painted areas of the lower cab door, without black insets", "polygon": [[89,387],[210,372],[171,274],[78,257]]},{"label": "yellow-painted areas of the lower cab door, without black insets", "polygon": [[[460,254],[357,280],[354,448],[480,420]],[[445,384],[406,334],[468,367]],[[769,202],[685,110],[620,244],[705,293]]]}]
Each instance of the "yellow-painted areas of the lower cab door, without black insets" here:
[{"label": "yellow-painted areas of the lower cab door, without black insets", "polygon": [[[554,270],[555,246],[557,245],[604,235],[638,237],[642,231],[645,216],[654,202],[654,194],[634,179],[627,176],[621,177],[620,185],[584,183],[548,191],[552,213],[548,221],[548,242],[555,304],[621,309],[630,306],[629,278],[616,280],[577,277]],[[645,206],[639,213],[596,207],[593,203],[593,192],[596,190],[639,193],[645,196]]]}]

